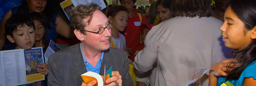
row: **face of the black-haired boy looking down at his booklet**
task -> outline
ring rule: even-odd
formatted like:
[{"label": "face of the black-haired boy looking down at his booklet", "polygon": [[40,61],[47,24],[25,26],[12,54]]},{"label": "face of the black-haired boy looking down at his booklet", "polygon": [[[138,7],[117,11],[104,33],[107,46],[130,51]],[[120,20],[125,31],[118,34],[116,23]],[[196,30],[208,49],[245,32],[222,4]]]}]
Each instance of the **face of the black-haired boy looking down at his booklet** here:
[{"label": "face of the black-haired boy looking down at his booklet", "polygon": [[[8,38],[9,39],[9,38]],[[33,27],[29,27],[24,24],[23,27],[19,25],[16,30],[13,31],[12,43],[16,43],[16,49],[31,49],[35,43],[35,30]]]}]

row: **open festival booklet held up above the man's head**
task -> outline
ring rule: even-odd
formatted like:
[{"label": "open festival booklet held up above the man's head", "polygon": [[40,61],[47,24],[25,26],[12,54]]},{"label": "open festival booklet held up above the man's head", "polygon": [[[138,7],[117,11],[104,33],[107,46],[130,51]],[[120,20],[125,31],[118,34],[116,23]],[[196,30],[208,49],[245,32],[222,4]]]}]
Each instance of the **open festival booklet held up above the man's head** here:
[{"label": "open festival booklet held up above the man's head", "polygon": [[76,6],[87,5],[90,3],[97,4],[101,10],[107,7],[103,0],[65,0],[60,3],[60,6],[70,20],[71,12],[75,9]]}]

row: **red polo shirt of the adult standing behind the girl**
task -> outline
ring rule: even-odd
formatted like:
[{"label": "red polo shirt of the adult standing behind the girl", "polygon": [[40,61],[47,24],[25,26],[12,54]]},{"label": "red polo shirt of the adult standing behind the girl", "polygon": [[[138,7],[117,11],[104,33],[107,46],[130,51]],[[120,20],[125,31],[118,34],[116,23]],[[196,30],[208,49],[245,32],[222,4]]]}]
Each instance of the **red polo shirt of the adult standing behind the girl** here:
[{"label": "red polo shirt of the adult standing behind the girl", "polygon": [[141,24],[146,24],[143,14],[140,14],[142,19],[140,22],[139,15],[136,13],[135,9],[133,9],[133,12],[134,12],[133,17],[132,18],[128,17],[126,29],[123,32],[121,32],[125,36],[126,45],[131,49],[134,49],[137,45],[139,45],[139,42],[140,42],[139,26]]}]

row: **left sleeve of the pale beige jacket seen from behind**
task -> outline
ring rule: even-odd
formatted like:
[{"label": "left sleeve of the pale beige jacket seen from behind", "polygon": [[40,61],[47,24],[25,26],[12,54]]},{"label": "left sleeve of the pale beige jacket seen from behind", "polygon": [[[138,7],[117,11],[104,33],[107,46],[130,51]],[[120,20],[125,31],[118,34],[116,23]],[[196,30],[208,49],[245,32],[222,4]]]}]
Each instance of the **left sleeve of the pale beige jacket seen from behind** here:
[{"label": "left sleeve of the pale beige jacket seen from behind", "polygon": [[158,44],[160,42],[158,34],[158,27],[152,27],[145,38],[144,49],[140,51],[134,58],[133,65],[139,74],[144,74],[145,72],[151,70],[153,68],[153,64],[157,62]]}]

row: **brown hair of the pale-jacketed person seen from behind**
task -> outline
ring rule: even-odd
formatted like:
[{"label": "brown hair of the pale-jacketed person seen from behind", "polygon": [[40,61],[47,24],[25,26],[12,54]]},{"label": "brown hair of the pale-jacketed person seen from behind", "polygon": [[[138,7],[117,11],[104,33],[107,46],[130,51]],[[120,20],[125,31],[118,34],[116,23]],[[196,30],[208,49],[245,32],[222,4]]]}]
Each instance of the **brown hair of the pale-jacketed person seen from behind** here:
[{"label": "brown hair of the pale-jacketed person seen from behind", "polygon": [[174,16],[186,17],[210,17],[212,0],[173,0],[171,3],[171,11]]}]

